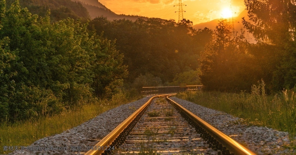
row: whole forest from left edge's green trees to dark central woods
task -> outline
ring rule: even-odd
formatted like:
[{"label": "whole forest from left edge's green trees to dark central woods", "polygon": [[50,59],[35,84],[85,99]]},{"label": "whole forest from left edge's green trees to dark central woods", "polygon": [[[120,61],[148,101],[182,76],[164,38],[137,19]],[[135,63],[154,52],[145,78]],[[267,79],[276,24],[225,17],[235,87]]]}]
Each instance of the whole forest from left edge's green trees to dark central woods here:
[{"label": "whole forest from left edge's green trees to dark central woods", "polygon": [[[38,118],[110,99],[123,86],[137,94],[144,85],[179,84],[182,77],[200,82],[197,59],[211,30],[194,30],[185,19],[88,22],[70,18],[73,10],[52,16],[68,4],[80,7],[65,2],[1,1],[1,120]],[[41,13],[30,13],[33,7]]]}]

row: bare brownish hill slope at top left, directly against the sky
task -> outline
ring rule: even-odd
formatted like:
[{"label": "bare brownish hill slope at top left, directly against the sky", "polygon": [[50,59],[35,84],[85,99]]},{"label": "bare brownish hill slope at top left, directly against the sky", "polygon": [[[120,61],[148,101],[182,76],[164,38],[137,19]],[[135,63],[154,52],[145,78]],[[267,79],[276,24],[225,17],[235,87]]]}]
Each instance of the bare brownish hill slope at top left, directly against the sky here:
[{"label": "bare brownish hill slope at top left, directly against the sky", "polygon": [[81,4],[87,9],[91,19],[96,17],[107,17],[108,20],[118,20],[118,19],[129,19],[131,21],[136,21],[138,18],[145,18],[140,16],[130,16],[124,14],[115,14],[106,6],[101,4],[98,0],[72,0],[81,2]]}]

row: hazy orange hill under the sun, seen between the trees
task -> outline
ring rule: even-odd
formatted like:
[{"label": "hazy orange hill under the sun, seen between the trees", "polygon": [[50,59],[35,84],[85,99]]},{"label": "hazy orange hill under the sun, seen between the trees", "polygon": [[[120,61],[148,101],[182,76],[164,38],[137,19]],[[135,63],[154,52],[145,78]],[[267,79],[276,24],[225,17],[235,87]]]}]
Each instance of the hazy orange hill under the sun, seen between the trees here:
[{"label": "hazy orange hill under the sun, seen between the trees", "polygon": [[[249,17],[247,16],[247,14],[248,14],[247,10],[244,10],[242,13],[239,14],[238,17],[233,17],[233,19],[234,19],[234,30],[236,32],[239,32],[240,33],[240,29],[242,28],[243,30],[246,31],[245,37],[247,38],[247,35],[248,35],[248,37],[250,38],[249,39],[250,40],[250,43],[255,43],[255,40],[254,40],[252,34],[250,34],[250,33],[248,34],[247,33],[247,30],[244,28],[244,25],[242,24],[242,17],[245,17],[245,19],[247,21],[249,20]],[[217,24],[219,22],[218,20],[220,20],[220,19],[214,19],[214,20],[212,20],[210,22],[205,22],[205,23],[200,23],[200,24],[197,24],[197,25],[193,25],[192,27],[194,29],[196,29],[196,30],[203,29],[205,27],[207,27],[209,29],[212,29],[212,30],[215,30],[215,28],[216,28],[216,26],[217,26]],[[231,22],[232,19],[227,19],[227,21],[230,21]]]}]

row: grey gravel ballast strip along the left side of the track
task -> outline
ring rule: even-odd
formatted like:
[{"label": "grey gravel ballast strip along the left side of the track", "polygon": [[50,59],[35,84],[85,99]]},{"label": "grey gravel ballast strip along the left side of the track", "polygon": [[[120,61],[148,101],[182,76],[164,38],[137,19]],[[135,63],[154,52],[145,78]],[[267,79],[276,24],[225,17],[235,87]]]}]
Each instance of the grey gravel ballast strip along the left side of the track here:
[{"label": "grey gravel ballast strip along the left side of the track", "polygon": [[[66,130],[63,133],[48,136],[31,144],[27,150],[14,151],[10,154],[75,154],[86,152],[87,146],[92,146],[98,141],[86,141],[85,139],[102,139],[116,126],[128,118],[136,109],[139,109],[146,103],[150,97],[144,97],[135,102],[120,105],[114,109],[108,110],[101,115],[91,119],[77,127]],[[40,151],[40,149],[64,149]],[[35,151],[33,150],[35,149]],[[36,151],[38,149],[38,151]],[[19,149],[20,150],[20,149]],[[76,150],[76,151],[75,151]],[[80,150],[80,151],[79,151]]]}]

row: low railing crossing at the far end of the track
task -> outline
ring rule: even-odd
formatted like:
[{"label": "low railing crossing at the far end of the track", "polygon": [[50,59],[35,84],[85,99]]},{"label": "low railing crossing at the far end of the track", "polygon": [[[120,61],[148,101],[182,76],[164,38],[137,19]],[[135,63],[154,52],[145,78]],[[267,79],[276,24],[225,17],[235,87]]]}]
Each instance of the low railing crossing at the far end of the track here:
[{"label": "low railing crossing at the far end of the track", "polygon": [[202,89],[202,85],[187,86],[186,84],[180,84],[180,86],[167,86],[167,87],[142,87],[142,95],[150,96],[150,95],[193,91],[193,90],[200,90],[200,89]]}]

